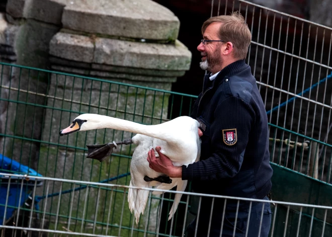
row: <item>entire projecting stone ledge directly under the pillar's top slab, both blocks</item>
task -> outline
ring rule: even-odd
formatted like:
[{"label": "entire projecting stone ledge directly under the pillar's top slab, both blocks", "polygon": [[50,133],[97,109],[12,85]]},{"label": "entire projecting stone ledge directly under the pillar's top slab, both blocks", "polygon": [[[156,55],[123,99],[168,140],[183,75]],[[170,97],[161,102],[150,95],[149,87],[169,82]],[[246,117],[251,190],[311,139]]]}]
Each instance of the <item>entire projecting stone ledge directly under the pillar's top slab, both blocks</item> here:
[{"label": "entire projecting stone ledge directly under the pillar's top slab, both blocks", "polygon": [[51,40],[50,54],[79,62],[159,70],[188,70],[191,62],[191,52],[180,41],[175,45],[156,44],[92,39],[62,32]]}]

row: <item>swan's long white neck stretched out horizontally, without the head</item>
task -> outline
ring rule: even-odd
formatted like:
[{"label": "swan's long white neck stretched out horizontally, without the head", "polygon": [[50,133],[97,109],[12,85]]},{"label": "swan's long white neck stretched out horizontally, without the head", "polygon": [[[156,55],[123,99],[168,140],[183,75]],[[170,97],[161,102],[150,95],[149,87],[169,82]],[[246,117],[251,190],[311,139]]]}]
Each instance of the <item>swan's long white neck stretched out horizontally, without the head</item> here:
[{"label": "swan's long white neck stretched out horizontally, without the head", "polygon": [[[158,138],[161,140],[165,139],[164,131],[159,128],[159,125],[143,125],[135,122],[131,122],[124,119],[113,118],[104,115],[95,115],[94,118],[95,126],[89,127],[87,130],[100,129],[100,128],[112,128],[116,130],[122,130],[127,132],[139,133],[146,136]],[[89,126],[89,121],[87,123]]]}]

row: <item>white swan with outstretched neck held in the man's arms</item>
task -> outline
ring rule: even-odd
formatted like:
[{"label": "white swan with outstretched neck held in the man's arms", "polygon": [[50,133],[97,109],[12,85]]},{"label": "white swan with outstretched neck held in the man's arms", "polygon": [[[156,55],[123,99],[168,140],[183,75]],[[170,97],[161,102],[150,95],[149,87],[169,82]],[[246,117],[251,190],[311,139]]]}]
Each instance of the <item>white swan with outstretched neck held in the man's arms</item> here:
[{"label": "white swan with outstretched neck held in the man's arms", "polygon": [[[137,145],[132,155],[130,164],[130,186],[148,188],[156,186],[157,189],[170,190],[177,186],[177,191],[184,191],[187,180],[172,178],[171,184],[157,181],[146,182],[144,176],[156,178],[164,176],[149,168],[147,152],[160,146],[160,152],[167,155],[174,166],[182,166],[199,160],[201,144],[198,136],[199,122],[187,116],[175,118],[171,121],[157,125],[142,125],[128,120],[113,118],[98,114],[82,114],[72,121],[72,125],[60,131],[60,135],[66,135],[76,131],[87,131],[101,128],[112,128],[122,131],[137,133],[132,141]],[[158,155],[155,152],[156,156]],[[144,214],[149,191],[129,188],[128,203],[132,213],[134,211],[136,224],[140,214]],[[153,192],[161,194],[162,192]],[[178,208],[182,194],[177,193],[169,213],[169,220]]]}]

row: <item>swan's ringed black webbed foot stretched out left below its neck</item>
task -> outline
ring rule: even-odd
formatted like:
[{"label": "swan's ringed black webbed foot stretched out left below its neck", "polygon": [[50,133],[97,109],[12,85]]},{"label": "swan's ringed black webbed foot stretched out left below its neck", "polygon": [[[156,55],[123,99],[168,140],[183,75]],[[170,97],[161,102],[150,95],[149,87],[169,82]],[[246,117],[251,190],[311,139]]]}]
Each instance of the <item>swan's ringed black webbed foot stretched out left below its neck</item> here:
[{"label": "swan's ringed black webbed foot stretched out left below its neck", "polygon": [[128,145],[132,144],[132,139],[126,139],[120,142],[109,142],[102,145],[87,145],[88,146],[88,158],[98,160],[100,162],[104,161],[105,158],[112,154],[113,149],[117,147],[117,145]]}]

